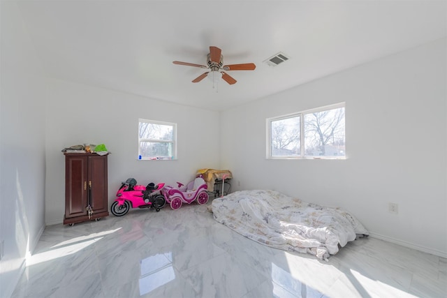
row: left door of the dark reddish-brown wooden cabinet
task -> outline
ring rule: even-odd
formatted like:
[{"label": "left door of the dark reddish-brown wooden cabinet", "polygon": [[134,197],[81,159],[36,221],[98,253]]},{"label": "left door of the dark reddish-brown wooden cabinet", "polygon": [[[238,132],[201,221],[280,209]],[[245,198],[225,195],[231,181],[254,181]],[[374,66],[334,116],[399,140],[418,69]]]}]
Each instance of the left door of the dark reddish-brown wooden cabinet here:
[{"label": "left door of the dark reddish-brown wooden cabinet", "polygon": [[66,156],[65,217],[87,214],[87,157]]}]

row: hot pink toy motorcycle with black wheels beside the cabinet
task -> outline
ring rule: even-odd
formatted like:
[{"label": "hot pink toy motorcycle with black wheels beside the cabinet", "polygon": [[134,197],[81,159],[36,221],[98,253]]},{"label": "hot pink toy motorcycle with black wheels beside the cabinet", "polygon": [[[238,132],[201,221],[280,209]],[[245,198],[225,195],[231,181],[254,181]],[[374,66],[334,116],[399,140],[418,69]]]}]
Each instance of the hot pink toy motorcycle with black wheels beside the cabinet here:
[{"label": "hot pink toy motorcycle with black wheels beside the cabinet", "polygon": [[164,183],[149,183],[147,186],[136,184],[137,181],[133,178],[122,182],[117,198],[110,207],[113,215],[124,216],[131,208],[155,208],[158,212],[165,206],[165,197],[159,193],[165,186]]}]

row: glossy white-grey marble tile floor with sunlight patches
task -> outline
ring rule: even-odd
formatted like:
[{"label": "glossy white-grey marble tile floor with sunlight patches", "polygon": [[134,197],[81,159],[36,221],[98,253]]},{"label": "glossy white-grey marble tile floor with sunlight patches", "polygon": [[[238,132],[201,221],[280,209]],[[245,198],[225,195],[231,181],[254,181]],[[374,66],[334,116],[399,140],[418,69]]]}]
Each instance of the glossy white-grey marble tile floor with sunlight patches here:
[{"label": "glossy white-grey marble tile floor with sunlight patches", "polygon": [[325,262],[242,237],[193,203],[45,228],[17,297],[447,297],[447,259],[369,237]]}]

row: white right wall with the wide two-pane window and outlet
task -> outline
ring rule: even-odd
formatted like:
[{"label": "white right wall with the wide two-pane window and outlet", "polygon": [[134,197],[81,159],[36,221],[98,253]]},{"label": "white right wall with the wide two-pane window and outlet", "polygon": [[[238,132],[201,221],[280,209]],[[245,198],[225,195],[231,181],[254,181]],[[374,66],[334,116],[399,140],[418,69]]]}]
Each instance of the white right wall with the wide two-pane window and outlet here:
[{"label": "white right wall with the wide two-pane window and outlet", "polygon": [[[221,167],[233,190],[344,207],[374,237],[446,257],[446,52],[437,40],[223,112]],[[346,160],[265,158],[266,118],[342,101]]]}]

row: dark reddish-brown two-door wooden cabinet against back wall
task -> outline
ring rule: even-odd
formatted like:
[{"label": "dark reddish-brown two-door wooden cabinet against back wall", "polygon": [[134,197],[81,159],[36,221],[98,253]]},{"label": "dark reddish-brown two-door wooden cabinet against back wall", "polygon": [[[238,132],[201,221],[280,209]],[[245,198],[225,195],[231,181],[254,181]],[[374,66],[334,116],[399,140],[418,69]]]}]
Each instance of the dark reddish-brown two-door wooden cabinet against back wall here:
[{"label": "dark reddish-brown two-door wooden cabinet against back wall", "polygon": [[109,215],[107,158],[94,153],[65,153],[64,225],[98,221]]}]

